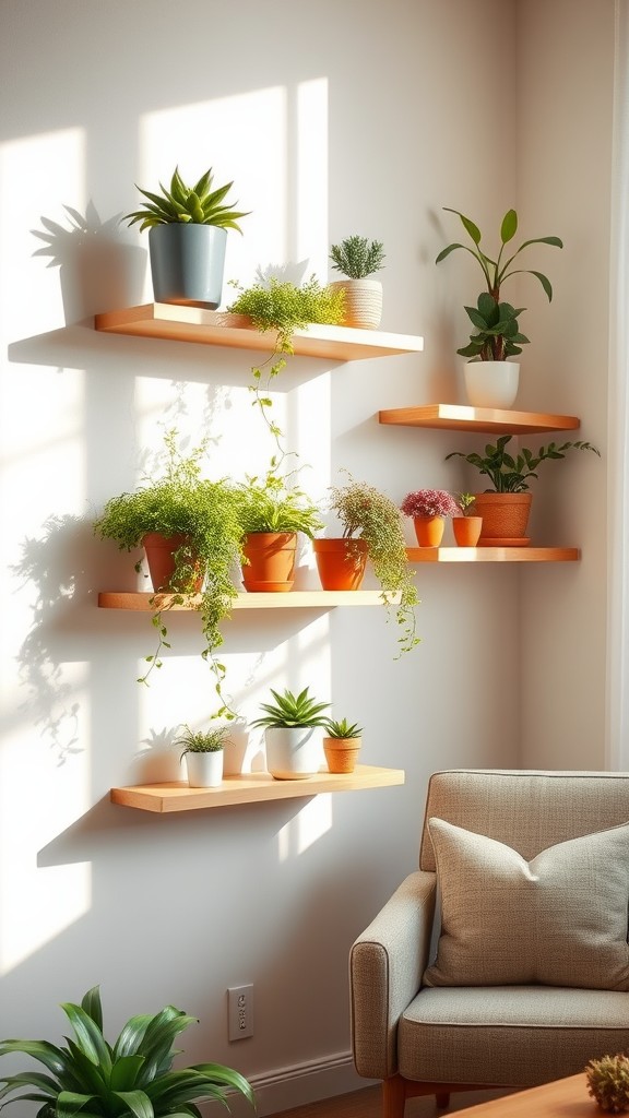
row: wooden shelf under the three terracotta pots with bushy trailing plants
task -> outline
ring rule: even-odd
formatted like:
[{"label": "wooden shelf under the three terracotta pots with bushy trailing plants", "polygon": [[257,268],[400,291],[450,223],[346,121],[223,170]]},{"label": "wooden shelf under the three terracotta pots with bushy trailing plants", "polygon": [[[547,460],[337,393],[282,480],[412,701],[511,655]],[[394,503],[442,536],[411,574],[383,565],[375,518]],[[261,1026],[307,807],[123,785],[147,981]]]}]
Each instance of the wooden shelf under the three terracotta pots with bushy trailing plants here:
[{"label": "wooden shelf under the three terracotta pots with bushy trailing plants", "polygon": [[[201,603],[200,594],[191,594],[182,604],[172,604],[173,594],[152,594],[148,590],[101,590],[101,609],[140,609],[154,613],[156,608],[195,610]],[[398,594],[387,595],[391,603],[400,601]],[[331,609],[335,606],[379,606],[379,590],[290,590],[289,594],[238,594],[232,609]]]}]

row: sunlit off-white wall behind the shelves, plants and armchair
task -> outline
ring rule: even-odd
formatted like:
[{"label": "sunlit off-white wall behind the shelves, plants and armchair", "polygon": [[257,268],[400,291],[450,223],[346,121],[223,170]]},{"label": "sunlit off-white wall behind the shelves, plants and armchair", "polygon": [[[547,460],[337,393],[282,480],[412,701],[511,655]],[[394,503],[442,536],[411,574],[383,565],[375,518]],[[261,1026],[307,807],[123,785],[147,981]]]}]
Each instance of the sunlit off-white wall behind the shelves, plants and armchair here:
[{"label": "sunlit off-white wall behind the shelves, plants and armchair", "polygon": [[[176,18],[163,0],[4,0],[0,1035],[59,1038],[58,1003],[100,983],[111,1032],[167,1002],[197,1014],[187,1057],[264,1077],[263,1114],[349,1089],[348,949],[416,864],[430,771],[518,764],[519,724],[527,761],[541,759],[537,735],[552,742],[544,764],[563,764],[576,728],[580,761],[601,764],[604,585],[592,584],[604,547],[575,503],[566,540],[583,542],[581,567],[422,566],[423,643],[401,661],[379,609],[314,620],[252,613],[226,627],[229,689],[245,717],[270,684],[310,683],[365,726],[363,760],[403,767],[405,787],[168,818],[113,807],[112,785],[172,771],[160,735],[203,722],[213,681],[196,618],[179,616],[160,678],[138,686],[152,648],[148,619],[95,606],[98,589],[132,587],[135,576],[91,528],[103,502],[154,464],[162,423],[191,440],[209,433],[215,475],[242,476],[270,455],[250,407],[250,354],[92,329],[95,311],[151,299],[145,239],[115,218],[137,205],[134,182],[150,187],[176,162],[188,178],[208,165],[218,180],[233,178],[253,211],[243,237],[229,236],[227,276],[248,283],[273,263],[326,278],[330,243],[379,238],[383,329],[425,338],[420,356],[287,369],[275,407],[312,467],[313,494],[340,466],[395,500],[420,486],[460,487],[443,457],[468,445],[463,436],[375,420],[379,408],[461,399],[452,353],[467,333],[471,273],[462,259],[433,265],[457,236],[442,206],[490,228],[517,200],[534,233],[561,227],[557,301],[531,320],[550,340],[570,310],[570,361],[558,342],[548,370],[537,356],[524,406],[588,414],[584,434],[603,443],[604,360],[589,349],[591,285],[580,269],[593,250],[604,272],[604,136],[594,187],[582,180],[583,206],[566,205],[563,180],[537,193],[527,168],[542,140],[553,177],[561,164],[536,130],[545,103],[533,67],[538,31],[553,19],[544,12],[561,27],[567,7],[579,10],[579,37],[569,51],[544,46],[542,89],[561,66],[561,131],[586,63],[588,96],[600,77],[609,131],[607,3],[245,0],[226,20],[207,0],[189,0]],[[65,206],[87,215],[88,236],[71,235]],[[34,230],[53,230],[53,258],[37,255],[47,241]],[[583,485],[604,483],[598,462],[566,466],[563,482],[575,471]],[[301,578],[312,577],[306,555]],[[582,624],[589,643],[580,647]],[[533,671],[539,634],[547,653]],[[547,679],[560,655],[555,711]],[[518,723],[520,675],[542,727],[526,710]],[[243,982],[255,984],[255,1035],[228,1044],[225,991]]]}]

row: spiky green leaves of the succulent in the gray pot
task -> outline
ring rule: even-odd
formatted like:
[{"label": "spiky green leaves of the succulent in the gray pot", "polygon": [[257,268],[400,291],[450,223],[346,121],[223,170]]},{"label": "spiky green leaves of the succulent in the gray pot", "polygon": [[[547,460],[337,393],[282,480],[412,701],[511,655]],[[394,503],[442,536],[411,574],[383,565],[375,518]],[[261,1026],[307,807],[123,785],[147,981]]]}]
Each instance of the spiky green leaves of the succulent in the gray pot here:
[{"label": "spiky green leaves of the succulent in the gray pot", "polygon": [[248,211],[234,210],[232,203],[224,205],[224,199],[234,186],[227,182],[223,187],[213,190],[214,177],[212,168],[201,174],[194,187],[188,187],[179,174],[176,167],[170,180],[168,190],[160,182],[161,195],[154,195],[150,190],[137,189],[147,202],[142,202],[142,208],[125,214],[123,220],[130,226],[140,221],[140,233],[144,229],[152,229],[156,225],[172,225],[175,222],[185,225],[215,225],[223,229],[237,229],[242,233],[238,219],[248,217]]}]

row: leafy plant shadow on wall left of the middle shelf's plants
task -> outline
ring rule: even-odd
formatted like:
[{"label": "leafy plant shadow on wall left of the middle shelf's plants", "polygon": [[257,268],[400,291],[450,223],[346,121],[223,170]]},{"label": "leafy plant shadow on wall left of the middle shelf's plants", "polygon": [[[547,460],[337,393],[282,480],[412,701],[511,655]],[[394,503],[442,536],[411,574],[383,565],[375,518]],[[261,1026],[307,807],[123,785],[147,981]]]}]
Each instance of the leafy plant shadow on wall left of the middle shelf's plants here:
[{"label": "leafy plant shadow on wall left of the middle shelf's plants", "polygon": [[[19,709],[48,740],[59,765],[81,752],[79,703],[74,684],[64,675],[69,659],[64,650],[68,603],[87,594],[85,557],[90,548],[90,525],[76,517],[50,517],[38,538],[27,537],[22,556],[10,571],[19,590],[36,588],[31,606],[32,624],[18,655],[20,681],[27,697]],[[18,594],[19,594],[18,590]]]}]

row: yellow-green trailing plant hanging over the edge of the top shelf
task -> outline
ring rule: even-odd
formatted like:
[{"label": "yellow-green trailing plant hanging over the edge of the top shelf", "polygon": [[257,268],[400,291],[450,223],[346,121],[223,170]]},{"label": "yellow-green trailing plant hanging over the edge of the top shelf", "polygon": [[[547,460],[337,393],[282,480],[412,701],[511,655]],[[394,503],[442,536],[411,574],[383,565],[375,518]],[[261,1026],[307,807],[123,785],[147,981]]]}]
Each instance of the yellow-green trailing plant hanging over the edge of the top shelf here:
[{"label": "yellow-green trailing plant hanging over the edge of the top shelf", "polygon": [[276,276],[271,276],[267,282],[259,281],[251,287],[243,287],[233,280],[229,283],[237,295],[227,311],[231,314],[245,314],[262,333],[267,330],[275,333],[270,357],[261,364],[252,366],[250,391],[254,395],[254,404],[260,408],[281,457],[284,457],[282,430],[270,415],[273,406],[269,395],[271,386],[285,368],[287,357],[294,352],[292,337],[295,330],[304,330],[310,323],[335,325],[342,322],[345,292],[329,285],[321,286],[314,275],[299,287]]}]

